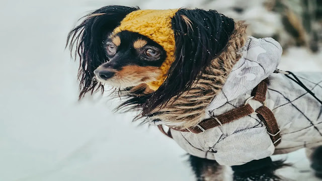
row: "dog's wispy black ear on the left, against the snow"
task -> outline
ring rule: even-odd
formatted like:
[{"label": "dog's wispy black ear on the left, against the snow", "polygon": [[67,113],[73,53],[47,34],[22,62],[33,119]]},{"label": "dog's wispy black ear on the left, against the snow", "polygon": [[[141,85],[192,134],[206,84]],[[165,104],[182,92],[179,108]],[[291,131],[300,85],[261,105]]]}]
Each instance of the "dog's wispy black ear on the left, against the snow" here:
[{"label": "dog's wispy black ear on the left, against the snow", "polygon": [[104,90],[103,85],[94,80],[94,70],[108,60],[103,40],[127,14],[136,10],[139,8],[106,6],[83,17],[85,20],[69,32],[66,47],[69,45],[71,54],[75,48],[75,59],[79,57],[79,99],[88,92]]}]

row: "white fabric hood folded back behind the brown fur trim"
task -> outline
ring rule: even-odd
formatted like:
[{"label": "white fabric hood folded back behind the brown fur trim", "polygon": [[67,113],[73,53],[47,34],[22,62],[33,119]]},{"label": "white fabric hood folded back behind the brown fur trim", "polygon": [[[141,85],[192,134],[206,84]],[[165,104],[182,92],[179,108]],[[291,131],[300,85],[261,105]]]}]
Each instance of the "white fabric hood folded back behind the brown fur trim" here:
[{"label": "white fabric hood folded back behind the brown fur trim", "polygon": [[282,55],[282,47],[273,38],[249,37],[240,51],[243,56],[232,68],[220,92],[208,105],[206,116],[255,88],[259,82],[275,71]]}]

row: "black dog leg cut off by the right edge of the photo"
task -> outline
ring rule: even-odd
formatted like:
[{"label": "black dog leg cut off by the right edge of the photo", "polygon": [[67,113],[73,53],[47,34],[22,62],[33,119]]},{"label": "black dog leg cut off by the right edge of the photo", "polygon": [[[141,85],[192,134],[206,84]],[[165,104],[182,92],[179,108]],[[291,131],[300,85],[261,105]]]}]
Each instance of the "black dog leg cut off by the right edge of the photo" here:
[{"label": "black dog leg cut off by the right edge of the photo", "polygon": [[311,167],[314,169],[315,175],[322,178],[322,146],[307,148],[306,155],[311,160]]}]

